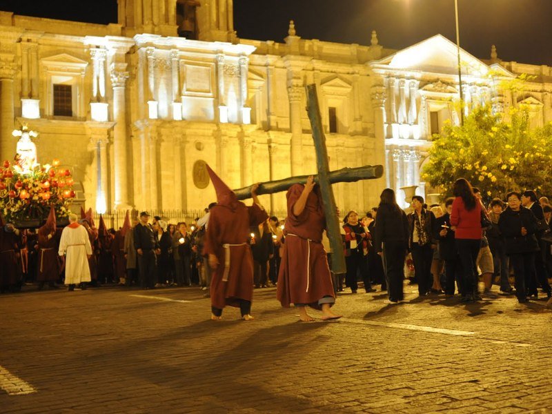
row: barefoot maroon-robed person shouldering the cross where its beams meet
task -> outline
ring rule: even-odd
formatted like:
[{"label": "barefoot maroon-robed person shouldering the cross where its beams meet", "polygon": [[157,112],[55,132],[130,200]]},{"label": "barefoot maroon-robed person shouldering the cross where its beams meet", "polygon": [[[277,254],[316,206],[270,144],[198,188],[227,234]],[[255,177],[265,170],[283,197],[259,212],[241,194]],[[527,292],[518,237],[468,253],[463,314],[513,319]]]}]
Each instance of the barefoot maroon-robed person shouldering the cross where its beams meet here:
[{"label": "barefoot maroon-robed person shouldering the cross where its beams meet", "polygon": [[322,320],[339,319],[331,306],[335,303],[332,277],[326,251],[322,246],[322,232],[326,218],[322,195],[314,177],[306,184],[294,184],[286,194],[288,217],[284,224],[284,252],[278,274],[277,298],[288,308],[299,308],[299,319],[313,321],[306,306],[322,310]]}]

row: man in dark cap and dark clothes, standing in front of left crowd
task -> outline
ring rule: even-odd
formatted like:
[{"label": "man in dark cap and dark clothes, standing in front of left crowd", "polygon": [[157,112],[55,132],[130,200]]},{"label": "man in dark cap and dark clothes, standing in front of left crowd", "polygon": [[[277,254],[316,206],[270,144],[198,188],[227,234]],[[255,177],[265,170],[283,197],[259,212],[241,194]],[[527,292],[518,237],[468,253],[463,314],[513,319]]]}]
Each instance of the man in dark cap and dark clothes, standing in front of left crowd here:
[{"label": "man in dark cap and dark clothes, standing in front of left crowd", "polygon": [[140,213],[140,222],[134,228],[134,246],[138,253],[138,268],[140,271],[140,286],[143,289],[155,287],[155,255],[161,253],[159,244],[153,235],[153,229],[148,220],[147,211]]}]

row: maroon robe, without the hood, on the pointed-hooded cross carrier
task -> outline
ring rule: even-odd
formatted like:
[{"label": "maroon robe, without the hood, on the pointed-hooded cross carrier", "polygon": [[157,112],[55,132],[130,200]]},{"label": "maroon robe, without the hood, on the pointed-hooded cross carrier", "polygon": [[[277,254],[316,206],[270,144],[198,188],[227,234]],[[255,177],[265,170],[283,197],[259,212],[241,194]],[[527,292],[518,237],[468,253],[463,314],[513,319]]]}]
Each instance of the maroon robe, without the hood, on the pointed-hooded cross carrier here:
[{"label": "maroon robe, without the hood, on the pointed-hooded cross carrier", "polygon": [[[268,219],[265,210],[257,204],[246,206],[241,201],[234,208],[215,206],[210,210],[209,225],[204,245],[205,255],[216,255],[219,266],[213,271],[210,295],[215,308],[239,307],[240,299],[253,299],[253,257],[247,244],[250,226],[259,226]],[[236,245],[224,248],[224,244]],[[226,251],[226,253],[225,253]],[[227,280],[225,258],[230,253]]]}]

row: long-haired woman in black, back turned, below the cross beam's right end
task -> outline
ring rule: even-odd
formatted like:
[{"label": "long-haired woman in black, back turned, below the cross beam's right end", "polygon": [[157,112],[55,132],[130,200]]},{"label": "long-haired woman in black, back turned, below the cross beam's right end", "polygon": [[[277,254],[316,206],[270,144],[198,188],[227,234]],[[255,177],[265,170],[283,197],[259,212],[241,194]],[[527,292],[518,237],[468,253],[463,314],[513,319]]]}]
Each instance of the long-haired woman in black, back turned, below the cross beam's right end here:
[{"label": "long-haired woman in black, back turned, below the cross beam's right end", "polygon": [[395,191],[386,188],[380,195],[380,206],[375,219],[375,244],[383,257],[389,299],[396,304],[404,299],[404,257],[408,249],[408,219],[395,201]]}]

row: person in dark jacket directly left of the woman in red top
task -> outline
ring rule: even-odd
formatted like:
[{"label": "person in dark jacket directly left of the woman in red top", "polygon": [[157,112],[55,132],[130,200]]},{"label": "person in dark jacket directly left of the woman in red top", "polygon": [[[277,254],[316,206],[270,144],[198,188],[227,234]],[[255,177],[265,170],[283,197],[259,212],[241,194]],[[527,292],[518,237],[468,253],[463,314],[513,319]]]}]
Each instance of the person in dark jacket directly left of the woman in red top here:
[{"label": "person in dark jacket directly left of the woman in red top", "polygon": [[454,230],[451,229],[451,212],[453,210],[454,197],[446,199],[444,208],[446,213],[433,221],[433,238],[439,242],[439,255],[444,260],[445,285],[444,294],[446,297],[454,296],[454,282],[458,285],[458,291],[462,292],[460,282],[462,270]]}]

